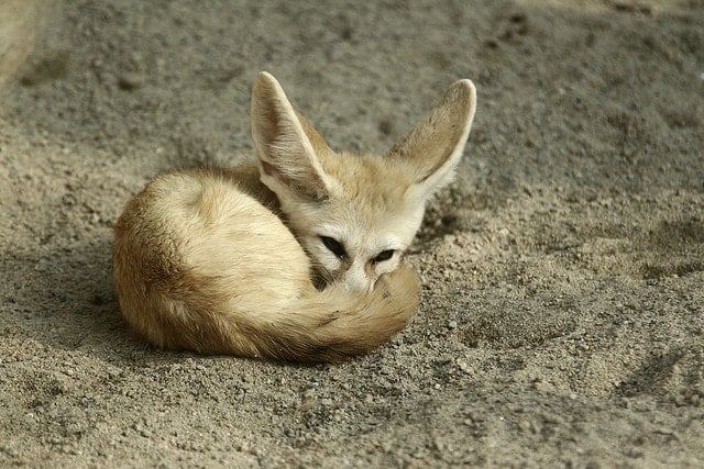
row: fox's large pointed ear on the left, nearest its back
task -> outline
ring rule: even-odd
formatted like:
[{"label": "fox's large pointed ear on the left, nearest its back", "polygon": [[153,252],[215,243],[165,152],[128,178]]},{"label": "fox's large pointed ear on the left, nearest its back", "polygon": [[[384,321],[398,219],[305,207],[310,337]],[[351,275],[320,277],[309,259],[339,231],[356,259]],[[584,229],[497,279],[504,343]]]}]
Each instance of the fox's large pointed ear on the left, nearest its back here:
[{"label": "fox's large pointed ear on the left, nearest its back", "polygon": [[282,86],[266,71],[254,80],[251,120],[262,182],[283,198],[327,199],[332,180],[323,171],[319,154],[330,148],[296,113]]}]

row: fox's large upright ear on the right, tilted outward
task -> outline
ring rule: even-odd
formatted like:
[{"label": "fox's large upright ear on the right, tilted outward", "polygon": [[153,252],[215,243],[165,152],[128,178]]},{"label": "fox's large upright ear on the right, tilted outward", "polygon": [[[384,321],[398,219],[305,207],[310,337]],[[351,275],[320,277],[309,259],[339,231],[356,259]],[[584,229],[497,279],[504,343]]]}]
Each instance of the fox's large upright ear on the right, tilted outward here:
[{"label": "fox's large upright ear on the right, tilted outward", "polygon": [[414,168],[414,197],[425,200],[452,180],[475,109],[472,81],[455,81],[442,101],[388,150],[386,158],[403,159]]}]

